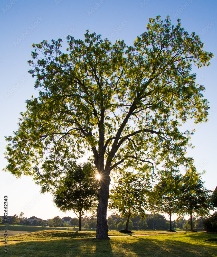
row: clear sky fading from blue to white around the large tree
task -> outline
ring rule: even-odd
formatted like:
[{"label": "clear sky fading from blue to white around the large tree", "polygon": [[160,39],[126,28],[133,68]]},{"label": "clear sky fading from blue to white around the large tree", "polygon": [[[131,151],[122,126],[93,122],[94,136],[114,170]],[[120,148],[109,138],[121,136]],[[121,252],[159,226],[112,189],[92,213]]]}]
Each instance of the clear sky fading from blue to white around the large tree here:
[{"label": "clear sky fading from blue to white around the large tree", "polygon": [[[181,19],[181,26],[191,34],[195,32],[204,43],[204,50],[216,56],[216,7],[215,0],[135,0],[135,1],[69,1],[69,0],[2,0],[0,20],[2,47],[0,53],[1,70],[1,131],[0,131],[0,172],[1,184],[0,215],[3,215],[3,197],[8,196],[9,215],[24,211],[24,216],[42,219],[54,216],[76,217],[73,212],[62,213],[54,206],[52,196],[40,195],[40,187],[31,177],[16,179],[2,169],[7,165],[4,159],[4,136],[17,130],[20,112],[25,111],[25,100],[37,96],[34,79],[28,74],[27,61],[31,59],[31,44],[42,40],[61,38],[62,49],[67,48],[65,37],[70,34],[75,39],[83,39],[84,33],[101,34],[112,43],[124,39],[133,45],[137,35],[146,30],[148,18],[161,15],[170,16],[172,24]],[[194,149],[187,155],[193,157],[197,171],[206,170],[202,176],[207,189],[214,190],[216,179],[216,58],[209,67],[193,69],[197,72],[197,82],[205,86],[204,98],[210,102],[209,121],[197,126],[188,121],[181,130],[196,129],[191,142]],[[168,218],[167,215],[165,215]]]}]

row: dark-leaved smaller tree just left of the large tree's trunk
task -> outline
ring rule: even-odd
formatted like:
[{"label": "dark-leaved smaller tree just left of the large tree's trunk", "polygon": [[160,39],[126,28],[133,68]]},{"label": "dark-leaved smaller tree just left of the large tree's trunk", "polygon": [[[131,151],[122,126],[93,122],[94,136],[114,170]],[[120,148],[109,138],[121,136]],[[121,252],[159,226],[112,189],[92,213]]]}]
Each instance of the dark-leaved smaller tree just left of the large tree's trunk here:
[{"label": "dark-leaved smaller tree just left of the large tree's trunk", "polygon": [[65,170],[68,174],[65,190],[54,196],[54,203],[61,211],[74,211],[79,218],[78,230],[81,231],[82,215],[97,207],[100,184],[88,162],[81,165],[68,161]]}]

